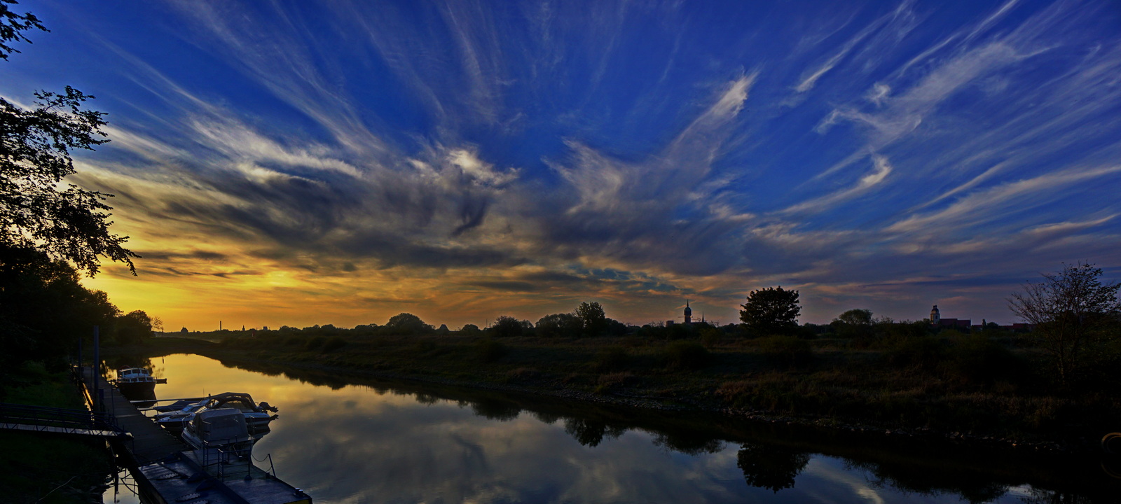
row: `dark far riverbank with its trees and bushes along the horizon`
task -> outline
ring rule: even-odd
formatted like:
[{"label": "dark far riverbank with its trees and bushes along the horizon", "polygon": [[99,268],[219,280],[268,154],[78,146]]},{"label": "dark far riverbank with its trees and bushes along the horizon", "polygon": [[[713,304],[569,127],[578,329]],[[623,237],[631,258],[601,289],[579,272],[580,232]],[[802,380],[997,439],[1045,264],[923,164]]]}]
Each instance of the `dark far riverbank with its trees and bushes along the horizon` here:
[{"label": "dark far riverbank with its trees and bushes along the horizon", "polygon": [[[371,375],[500,388],[671,410],[1087,449],[1121,428],[1118,283],[1064,265],[1013,296],[1035,329],[960,332],[854,309],[798,326],[798,292],[752,291],[741,325],[627,326],[596,302],[535,325],[385,326],[193,334],[194,352]],[[1031,311],[1035,310],[1035,311]],[[186,329],[184,329],[184,333]],[[191,335],[189,333],[185,333]]]}]

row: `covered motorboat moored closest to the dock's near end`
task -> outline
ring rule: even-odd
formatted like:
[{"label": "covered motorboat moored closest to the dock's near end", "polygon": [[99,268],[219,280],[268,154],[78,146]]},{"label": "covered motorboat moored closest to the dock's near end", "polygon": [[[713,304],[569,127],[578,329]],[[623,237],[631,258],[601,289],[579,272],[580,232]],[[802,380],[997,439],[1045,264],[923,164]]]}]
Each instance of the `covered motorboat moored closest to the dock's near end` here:
[{"label": "covered motorboat moored closest to the dock's near end", "polygon": [[202,451],[204,459],[220,461],[244,458],[258,439],[250,436],[245,414],[233,408],[202,408],[191,413],[180,437]]}]

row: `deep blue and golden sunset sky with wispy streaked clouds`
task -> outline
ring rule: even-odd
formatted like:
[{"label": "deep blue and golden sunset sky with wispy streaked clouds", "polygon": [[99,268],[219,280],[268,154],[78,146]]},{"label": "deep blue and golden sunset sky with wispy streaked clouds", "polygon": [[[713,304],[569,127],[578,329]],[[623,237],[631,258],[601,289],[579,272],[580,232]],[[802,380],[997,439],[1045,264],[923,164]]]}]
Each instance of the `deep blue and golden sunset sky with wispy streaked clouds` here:
[{"label": "deep blue and golden sunset sky with wispy streaked clouds", "polygon": [[1121,279],[1121,3],[24,1],[0,95],[72,85],[177,330],[536,321],[1018,321],[1064,262]]}]

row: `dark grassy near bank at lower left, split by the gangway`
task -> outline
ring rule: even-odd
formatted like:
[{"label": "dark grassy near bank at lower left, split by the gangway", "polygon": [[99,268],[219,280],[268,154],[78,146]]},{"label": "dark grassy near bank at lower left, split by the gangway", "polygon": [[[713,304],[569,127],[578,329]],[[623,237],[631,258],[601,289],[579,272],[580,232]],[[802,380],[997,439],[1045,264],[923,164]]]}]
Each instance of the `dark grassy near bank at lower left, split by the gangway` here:
[{"label": "dark grassy near bank at lower left, split by the gangway", "polygon": [[[7,373],[3,402],[82,409],[68,371],[28,363]],[[53,433],[0,431],[0,487],[4,502],[101,502],[115,465],[104,441]]]}]

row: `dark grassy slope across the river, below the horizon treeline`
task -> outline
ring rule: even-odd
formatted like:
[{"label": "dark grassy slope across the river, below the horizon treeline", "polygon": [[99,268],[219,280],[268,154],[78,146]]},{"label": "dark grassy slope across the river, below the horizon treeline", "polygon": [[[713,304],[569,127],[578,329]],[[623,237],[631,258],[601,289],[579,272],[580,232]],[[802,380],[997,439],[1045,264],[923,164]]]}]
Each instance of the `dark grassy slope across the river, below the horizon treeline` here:
[{"label": "dark grassy slope across the river, below the horizon treeline", "polygon": [[165,351],[902,435],[1091,448],[1121,427],[1109,384],[1051,385],[1019,339],[948,334],[858,344],[769,337],[263,334]]}]

